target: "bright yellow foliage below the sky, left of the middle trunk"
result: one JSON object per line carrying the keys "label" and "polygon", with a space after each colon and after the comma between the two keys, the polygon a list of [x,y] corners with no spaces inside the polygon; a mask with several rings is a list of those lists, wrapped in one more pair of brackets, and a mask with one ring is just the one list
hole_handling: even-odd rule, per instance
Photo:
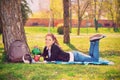
{"label": "bright yellow foliage below the sky, left of the middle trunk", "polygon": [[50,10],[55,19],[63,18],[62,0],[50,0],[50,9],[47,11],[38,11],[31,15],[31,18],[50,18]]}

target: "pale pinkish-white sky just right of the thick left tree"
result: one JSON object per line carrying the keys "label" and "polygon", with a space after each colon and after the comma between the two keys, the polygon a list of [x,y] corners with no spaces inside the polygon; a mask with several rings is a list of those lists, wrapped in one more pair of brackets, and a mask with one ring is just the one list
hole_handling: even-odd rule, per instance
{"label": "pale pinkish-white sky just right of the thick left tree", "polygon": [[28,6],[32,12],[39,12],[42,10],[49,10],[49,0],[27,0]]}

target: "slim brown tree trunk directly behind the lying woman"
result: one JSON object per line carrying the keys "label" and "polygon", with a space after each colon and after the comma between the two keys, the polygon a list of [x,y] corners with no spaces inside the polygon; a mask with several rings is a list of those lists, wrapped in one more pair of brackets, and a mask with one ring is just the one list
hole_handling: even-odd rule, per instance
{"label": "slim brown tree trunk directly behind the lying woman", "polygon": [[63,0],[63,8],[64,8],[64,43],[70,43],[69,36],[69,0]]}

